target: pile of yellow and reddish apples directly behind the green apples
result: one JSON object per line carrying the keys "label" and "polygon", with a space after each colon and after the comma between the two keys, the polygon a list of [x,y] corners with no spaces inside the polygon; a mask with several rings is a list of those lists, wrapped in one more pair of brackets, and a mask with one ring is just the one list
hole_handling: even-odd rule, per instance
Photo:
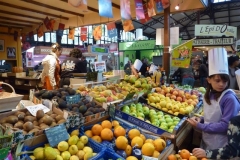
{"label": "pile of yellow and reddish apples directly behind the green apples", "polygon": [[147,101],[151,106],[177,116],[179,113],[187,115],[192,112],[199,99],[195,92],[189,93],[162,86],[162,88],[157,87],[155,92],[149,93]]}

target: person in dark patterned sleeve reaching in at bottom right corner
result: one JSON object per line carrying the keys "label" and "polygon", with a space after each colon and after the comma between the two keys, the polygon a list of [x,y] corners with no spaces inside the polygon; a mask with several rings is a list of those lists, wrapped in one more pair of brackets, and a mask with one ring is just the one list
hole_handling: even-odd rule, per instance
{"label": "person in dark patterned sleeve reaching in at bottom right corner", "polygon": [[[231,118],[227,131],[228,144],[225,147],[204,150],[201,148],[194,148],[192,153],[197,158],[209,159],[240,159],[240,115]],[[238,158],[236,158],[238,157]]]}

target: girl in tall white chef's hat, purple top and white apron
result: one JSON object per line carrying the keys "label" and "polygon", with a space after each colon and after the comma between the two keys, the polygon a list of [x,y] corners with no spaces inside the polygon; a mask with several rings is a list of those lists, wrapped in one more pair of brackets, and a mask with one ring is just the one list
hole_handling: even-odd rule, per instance
{"label": "girl in tall white chef's hat, purple top and white apron", "polygon": [[[227,144],[227,128],[230,118],[240,110],[240,102],[235,93],[228,89],[229,76],[227,52],[224,48],[215,48],[209,52],[208,86],[204,95],[204,116],[190,118],[188,122],[202,131],[201,148],[212,150]],[[220,65],[219,64],[223,64]]]}

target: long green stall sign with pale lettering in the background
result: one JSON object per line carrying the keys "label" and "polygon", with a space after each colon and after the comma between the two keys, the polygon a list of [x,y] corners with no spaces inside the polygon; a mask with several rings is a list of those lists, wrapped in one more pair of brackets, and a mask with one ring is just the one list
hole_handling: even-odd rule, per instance
{"label": "long green stall sign with pale lettering in the background", "polygon": [[154,49],[155,45],[156,45],[156,40],[120,42],[119,50],[127,51],[127,50]]}

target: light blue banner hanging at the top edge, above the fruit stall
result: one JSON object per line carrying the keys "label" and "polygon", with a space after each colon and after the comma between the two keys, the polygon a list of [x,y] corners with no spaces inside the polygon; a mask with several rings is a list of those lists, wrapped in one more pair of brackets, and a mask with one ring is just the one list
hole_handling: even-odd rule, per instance
{"label": "light blue banner hanging at the top edge, above the fruit stall", "polygon": [[111,0],[98,0],[98,9],[100,16],[113,18]]}

